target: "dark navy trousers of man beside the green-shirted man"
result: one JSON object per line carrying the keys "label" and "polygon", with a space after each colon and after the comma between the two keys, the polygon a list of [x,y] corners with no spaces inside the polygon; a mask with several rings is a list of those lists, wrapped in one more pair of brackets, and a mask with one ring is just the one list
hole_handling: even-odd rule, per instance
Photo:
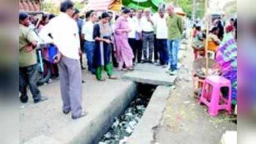
{"label": "dark navy trousers of man beside the green-shirted man", "polygon": [[169,48],[167,47],[166,39],[157,39],[158,51],[160,54],[160,64],[168,65],[169,63]]}

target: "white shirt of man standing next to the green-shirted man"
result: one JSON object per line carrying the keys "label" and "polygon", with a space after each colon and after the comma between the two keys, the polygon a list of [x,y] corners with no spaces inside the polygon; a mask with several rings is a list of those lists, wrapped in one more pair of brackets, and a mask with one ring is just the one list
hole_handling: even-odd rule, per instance
{"label": "white shirt of man standing next to the green-shirted man", "polygon": [[160,17],[160,15],[155,17],[155,27],[156,27],[156,38],[158,39],[167,39],[168,36],[168,28],[166,23],[166,16],[163,18]]}

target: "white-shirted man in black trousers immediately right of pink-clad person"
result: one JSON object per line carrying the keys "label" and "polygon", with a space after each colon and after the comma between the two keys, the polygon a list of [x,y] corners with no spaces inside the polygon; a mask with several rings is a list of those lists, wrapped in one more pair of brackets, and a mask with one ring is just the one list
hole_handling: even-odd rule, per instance
{"label": "white-shirted man in black trousers immediately right of pink-clad person", "polygon": [[129,28],[131,29],[131,32],[128,34],[128,42],[131,48],[133,49],[133,62],[136,61],[136,17],[134,17],[134,9],[131,9],[131,12],[129,14],[128,18]]}

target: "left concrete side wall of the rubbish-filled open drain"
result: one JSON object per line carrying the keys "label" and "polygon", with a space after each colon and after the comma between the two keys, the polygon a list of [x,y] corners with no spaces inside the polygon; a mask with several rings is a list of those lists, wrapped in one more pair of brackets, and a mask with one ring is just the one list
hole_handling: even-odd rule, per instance
{"label": "left concrete side wall of the rubbish-filled open drain", "polygon": [[98,113],[97,118],[91,120],[89,125],[83,127],[82,131],[69,144],[96,144],[100,141],[113,124],[114,118],[121,115],[136,96],[138,93],[137,86],[138,84],[133,83],[129,89],[123,90],[123,93],[111,101],[102,113]]}

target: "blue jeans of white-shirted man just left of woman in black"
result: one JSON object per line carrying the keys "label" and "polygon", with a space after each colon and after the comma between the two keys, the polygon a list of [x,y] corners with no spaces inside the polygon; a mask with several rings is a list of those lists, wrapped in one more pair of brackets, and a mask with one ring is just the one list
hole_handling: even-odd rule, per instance
{"label": "blue jeans of white-shirted man just left of woman in black", "polygon": [[86,41],[84,43],[84,51],[86,52],[88,70],[95,73],[95,68],[93,68],[93,57],[95,53],[95,42]]}

